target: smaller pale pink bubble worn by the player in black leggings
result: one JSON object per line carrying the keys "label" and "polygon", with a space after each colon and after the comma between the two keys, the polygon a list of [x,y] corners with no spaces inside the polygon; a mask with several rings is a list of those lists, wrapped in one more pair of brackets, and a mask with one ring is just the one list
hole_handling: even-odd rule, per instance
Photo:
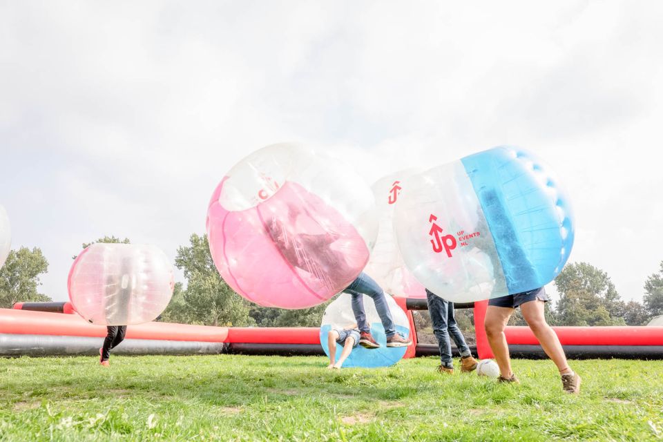
{"label": "smaller pale pink bubble worn by the player in black leggings", "polygon": [[68,287],[74,309],[89,323],[147,323],[173,296],[173,267],[154,246],[97,243],[74,261]]}

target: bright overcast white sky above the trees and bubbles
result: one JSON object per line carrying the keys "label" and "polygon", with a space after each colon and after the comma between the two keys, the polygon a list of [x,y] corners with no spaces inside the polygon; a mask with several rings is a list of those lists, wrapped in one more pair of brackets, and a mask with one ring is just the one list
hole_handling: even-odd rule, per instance
{"label": "bright overcast white sky above the trees and bubbles", "polygon": [[323,149],[367,184],[512,144],[566,186],[570,262],[640,300],[663,260],[662,18],[628,1],[1,1],[13,247],[39,247],[41,292],[66,300],[83,242],[174,258],[267,144]]}

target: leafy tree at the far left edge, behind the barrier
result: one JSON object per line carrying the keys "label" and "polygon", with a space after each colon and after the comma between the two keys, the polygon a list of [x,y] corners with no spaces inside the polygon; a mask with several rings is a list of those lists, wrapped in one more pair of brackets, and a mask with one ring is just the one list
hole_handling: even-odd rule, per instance
{"label": "leafy tree at the far left edge, behind the barrier", "polygon": [[41,285],[39,275],[46,271],[48,261],[37,247],[10,251],[0,269],[0,307],[10,309],[15,302],[50,301],[37,291]]}

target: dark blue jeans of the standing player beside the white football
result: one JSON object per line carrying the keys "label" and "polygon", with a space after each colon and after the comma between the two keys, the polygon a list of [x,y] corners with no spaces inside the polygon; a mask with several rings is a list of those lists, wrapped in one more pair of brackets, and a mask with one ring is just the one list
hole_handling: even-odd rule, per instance
{"label": "dark blue jeans of the standing player beside the white football", "polygon": [[451,340],[454,339],[461,356],[471,356],[470,347],[465,343],[463,333],[459,329],[454,317],[454,303],[448,302],[426,289],[428,300],[428,312],[430,320],[433,323],[433,334],[437,338],[437,345],[440,347],[440,360],[445,367],[453,367],[451,358]]}

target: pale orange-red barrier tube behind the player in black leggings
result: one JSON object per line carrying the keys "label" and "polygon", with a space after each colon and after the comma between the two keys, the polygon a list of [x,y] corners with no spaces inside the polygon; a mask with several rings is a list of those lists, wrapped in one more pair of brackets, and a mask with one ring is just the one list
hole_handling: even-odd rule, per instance
{"label": "pale orange-red barrier tube behind the player in black leggings", "polygon": [[[0,309],[0,333],[97,336],[103,338],[106,336],[106,327],[86,323],[78,315]],[[224,343],[228,338],[228,327],[146,323],[127,327],[126,337],[133,339],[195,340],[200,342]]]}

